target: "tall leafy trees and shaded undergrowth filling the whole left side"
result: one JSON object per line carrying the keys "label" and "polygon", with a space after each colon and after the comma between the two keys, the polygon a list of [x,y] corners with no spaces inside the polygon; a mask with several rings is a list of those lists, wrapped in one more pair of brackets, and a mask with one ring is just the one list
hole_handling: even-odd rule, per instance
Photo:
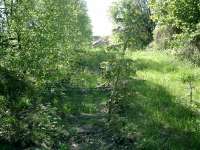
{"label": "tall leafy trees and shaded undergrowth filling the whole left side", "polygon": [[71,80],[91,34],[84,0],[0,0],[0,140],[64,149],[61,99],[40,93]]}

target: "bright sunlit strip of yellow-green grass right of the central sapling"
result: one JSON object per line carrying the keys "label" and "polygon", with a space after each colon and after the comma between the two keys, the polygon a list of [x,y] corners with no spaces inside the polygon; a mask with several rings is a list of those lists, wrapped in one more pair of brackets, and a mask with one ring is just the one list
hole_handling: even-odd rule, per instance
{"label": "bright sunlit strip of yellow-green grass right of the central sapling", "polygon": [[[190,62],[183,62],[174,56],[159,51],[143,51],[127,54],[128,58],[135,61],[137,77],[151,81],[165,88],[171,95],[178,99],[189,99],[187,97],[188,85],[183,83],[181,78],[185,74],[200,76],[200,68]],[[194,100],[200,100],[200,80],[194,83],[196,88]]]}

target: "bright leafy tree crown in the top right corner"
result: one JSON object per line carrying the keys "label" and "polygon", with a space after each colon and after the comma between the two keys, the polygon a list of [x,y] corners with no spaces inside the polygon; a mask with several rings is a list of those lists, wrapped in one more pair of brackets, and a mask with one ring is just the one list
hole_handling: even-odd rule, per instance
{"label": "bright leafy tree crown in the top right corner", "polygon": [[194,30],[199,23],[200,4],[198,0],[151,0],[152,18],[181,30]]}

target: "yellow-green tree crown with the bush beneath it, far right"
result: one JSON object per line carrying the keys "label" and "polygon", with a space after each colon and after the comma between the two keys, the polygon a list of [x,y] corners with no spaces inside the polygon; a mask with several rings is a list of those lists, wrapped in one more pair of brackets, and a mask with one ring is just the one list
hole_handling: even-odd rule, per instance
{"label": "yellow-green tree crown with the bush beneath it, far right", "polygon": [[169,32],[170,36],[161,32],[163,37],[161,43],[158,43],[157,38],[154,37],[154,48],[172,49],[174,54],[199,64],[199,1],[151,0],[150,8],[152,19],[157,23],[157,30],[162,31],[163,26],[172,29]]}

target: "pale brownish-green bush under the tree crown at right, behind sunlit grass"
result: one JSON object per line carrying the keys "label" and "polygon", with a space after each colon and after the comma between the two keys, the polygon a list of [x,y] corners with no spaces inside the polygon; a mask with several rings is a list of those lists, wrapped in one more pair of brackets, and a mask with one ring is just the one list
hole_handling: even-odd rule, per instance
{"label": "pale brownish-green bush under the tree crown at right, behind sunlit grass", "polygon": [[200,65],[200,23],[193,32],[181,32],[169,25],[157,25],[151,49],[170,49],[173,54]]}

